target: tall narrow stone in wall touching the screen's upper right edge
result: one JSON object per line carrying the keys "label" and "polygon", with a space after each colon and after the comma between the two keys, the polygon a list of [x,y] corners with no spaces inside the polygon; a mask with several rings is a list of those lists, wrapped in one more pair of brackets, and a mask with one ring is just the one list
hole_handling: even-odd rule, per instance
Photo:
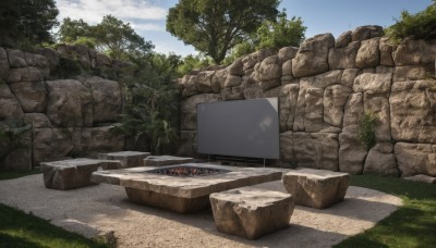
{"label": "tall narrow stone in wall touching the screen's upper right edge", "polygon": [[291,131],[295,117],[296,99],[299,97],[299,84],[284,85],[280,89],[280,131]]}

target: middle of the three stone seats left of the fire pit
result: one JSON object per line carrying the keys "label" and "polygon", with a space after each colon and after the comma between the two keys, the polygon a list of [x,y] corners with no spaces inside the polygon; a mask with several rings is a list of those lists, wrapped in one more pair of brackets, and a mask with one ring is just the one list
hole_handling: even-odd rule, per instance
{"label": "middle of the three stone seats left of the fire pit", "polygon": [[120,169],[143,166],[143,160],[150,156],[150,152],[143,151],[117,151],[98,154],[101,160],[119,160]]}

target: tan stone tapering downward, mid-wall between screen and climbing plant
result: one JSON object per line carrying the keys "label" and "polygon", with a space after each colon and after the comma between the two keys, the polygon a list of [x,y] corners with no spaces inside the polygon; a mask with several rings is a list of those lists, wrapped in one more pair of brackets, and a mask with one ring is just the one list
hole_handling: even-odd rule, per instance
{"label": "tan stone tapering downward, mid-wall between screen and climbing plant", "polygon": [[324,90],[324,123],[342,127],[343,107],[350,92],[351,89],[342,85],[328,86]]}

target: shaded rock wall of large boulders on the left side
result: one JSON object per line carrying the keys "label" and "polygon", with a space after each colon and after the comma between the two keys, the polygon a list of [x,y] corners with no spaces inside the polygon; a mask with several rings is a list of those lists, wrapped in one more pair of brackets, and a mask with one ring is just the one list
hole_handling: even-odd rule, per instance
{"label": "shaded rock wall of large boulders on the left side", "polygon": [[124,136],[111,131],[121,85],[108,78],[132,76],[129,64],[81,45],[57,49],[0,48],[0,168],[124,148]]}

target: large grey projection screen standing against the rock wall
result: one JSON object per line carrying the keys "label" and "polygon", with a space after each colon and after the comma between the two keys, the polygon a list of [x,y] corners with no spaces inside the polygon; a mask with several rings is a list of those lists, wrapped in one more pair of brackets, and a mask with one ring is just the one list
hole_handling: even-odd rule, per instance
{"label": "large grey projection screen standing against the rock wall", "polygon": [[197,151],[279,159],[278,99],[197,104]]}

